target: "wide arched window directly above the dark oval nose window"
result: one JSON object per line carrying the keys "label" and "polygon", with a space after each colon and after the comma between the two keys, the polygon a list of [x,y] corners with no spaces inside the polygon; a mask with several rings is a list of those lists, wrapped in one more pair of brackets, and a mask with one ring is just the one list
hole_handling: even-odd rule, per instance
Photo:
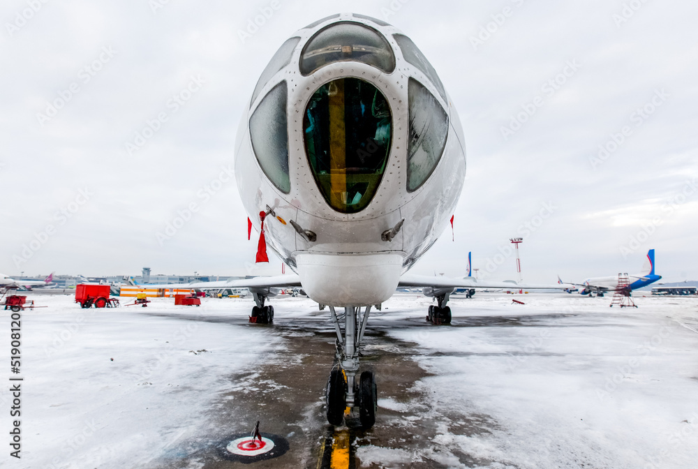
{"label": "wide arched window directly above the dark oval nose window", "polygon": [[343,61],[363,62],[385,73],[395,70],[395,55],[388,41],[375,29],[355,22],[330,24],[315,33],[303,48],[300,70],[307,76]]}

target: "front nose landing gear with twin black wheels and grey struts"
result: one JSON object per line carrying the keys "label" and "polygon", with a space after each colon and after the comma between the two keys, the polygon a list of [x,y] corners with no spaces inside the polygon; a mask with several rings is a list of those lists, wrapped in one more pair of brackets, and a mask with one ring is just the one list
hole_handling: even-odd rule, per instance
{"label": "front nose landing gear with twin black wheels and grey struts", "polygon": [[339,319],[334,306],[329,306],[337,333],[336,359],[327,380],[325,397],[327,401],[327,422],[340,426],[347,408],[359,408],[359,420],[364,429],[370,429],[376,423],[378,407],[378,390],[376,377],[372,371],[364,371],[357,382],[359,373],[359,345],[364,338],[366,322],[369,320],[371,306],[366,306],[362,316],[361,308],[348,306],[344,308],[344,334],[342,336]]}

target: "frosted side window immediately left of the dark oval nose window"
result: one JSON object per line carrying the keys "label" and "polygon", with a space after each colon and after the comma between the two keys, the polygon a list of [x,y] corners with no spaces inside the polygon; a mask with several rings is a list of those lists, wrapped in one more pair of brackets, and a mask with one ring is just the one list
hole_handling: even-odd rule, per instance
{"label": "frosted side window immediately left of the dark oval nose window", "polygon": [[288,194],[288,91],[283,81],[274,87],[255,109],[250,118],[252,149],[262,171],[279,191]]}

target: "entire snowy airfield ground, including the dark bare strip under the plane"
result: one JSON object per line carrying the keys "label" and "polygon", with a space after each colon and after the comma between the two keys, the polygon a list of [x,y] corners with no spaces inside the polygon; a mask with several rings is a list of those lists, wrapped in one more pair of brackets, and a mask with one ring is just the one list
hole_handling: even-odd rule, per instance
{"label": "entire snowy airfield ground, including the dark bare strip under the plane", "polygon": [[[346,430],[351,467],[698,467],[698,299],[641,295],[622,310],[609,296],[456,295],[439,327],[424,321],[430,299],[397,294],[369,320],[362,364],[376,371],[378,419]],[[22,459],[1,466],[327,465],[335,336],[311,300],[272,299],[274,325],[250,325],[251,297],[101,310],[34,299],[48,307],[22,313]],[[2,322],[7,364],[9,311]],[[288,452],[221,456],[257,420]]]}

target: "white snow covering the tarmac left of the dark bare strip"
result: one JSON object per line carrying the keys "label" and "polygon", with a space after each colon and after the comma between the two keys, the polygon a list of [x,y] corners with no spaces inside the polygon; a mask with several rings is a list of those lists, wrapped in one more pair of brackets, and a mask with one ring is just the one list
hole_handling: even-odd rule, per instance
{"label": "white snow covering the tarmac left of the dark bare strip", "polygon": [[[205,424],[211,400],[231,385],[224,378],[274,350],[273,336],[253,328],[243,333],[217,316],[226,308],[214,306],[242,312],[242,300],[199,308],[172,303],[97,310],[80,308],[72,297],[38,297],[36,304],[48,308],[22,314],[22,460],[3,454],[0,466],[149,467]],[[5,364],[8,313],[0,332]],[[9,408],[4,385],[0,401]],[[2,425],[9,431],[7,413]]]}

